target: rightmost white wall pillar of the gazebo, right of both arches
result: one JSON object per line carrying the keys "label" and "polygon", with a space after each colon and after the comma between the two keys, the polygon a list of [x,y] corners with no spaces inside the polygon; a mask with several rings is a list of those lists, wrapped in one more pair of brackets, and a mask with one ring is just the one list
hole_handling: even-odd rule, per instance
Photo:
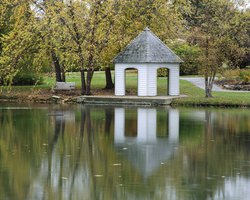
{"label": "rightmost white wall pillar of the gazebo, right of both arches", "polygon": [[170,96],[175,96],[180,94],[179,89],[179,65],[171,65],[169,68],[169,85],[168,85],[168,94]]}

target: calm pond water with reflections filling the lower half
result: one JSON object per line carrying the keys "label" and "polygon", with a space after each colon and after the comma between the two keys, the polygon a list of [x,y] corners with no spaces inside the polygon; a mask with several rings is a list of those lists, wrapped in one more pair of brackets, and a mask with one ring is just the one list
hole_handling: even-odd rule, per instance
{"label": "calm pond water with reflections filling the lower half", "polygon": [[0,105],[0,199],[249,199],[250,110]]}

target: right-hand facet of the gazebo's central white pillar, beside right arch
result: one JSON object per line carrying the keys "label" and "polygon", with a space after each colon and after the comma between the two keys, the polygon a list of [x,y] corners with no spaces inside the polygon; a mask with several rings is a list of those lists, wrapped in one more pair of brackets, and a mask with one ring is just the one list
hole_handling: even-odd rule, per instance
{"label": "right-hand facet of the gazebo's central white pillar, beside right arch", "polygon": [[149,65],[148,66],[148,96],[157,95],[157,67]]}

